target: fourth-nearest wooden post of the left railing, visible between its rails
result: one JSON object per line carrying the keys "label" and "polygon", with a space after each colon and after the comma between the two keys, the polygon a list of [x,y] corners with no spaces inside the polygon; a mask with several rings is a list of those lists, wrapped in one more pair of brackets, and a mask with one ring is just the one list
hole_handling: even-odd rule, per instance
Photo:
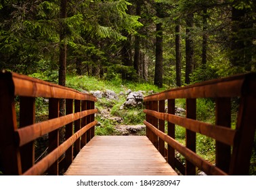
{"label": "fourth-nearest wooden post of the left railing, visible between its rails", "polygon": [[[73,99],[66,99],[66,115],[73,113],[73,111],[74,111],[73,103],[74,103]],[[74,123],[71,122],[70,124],[66,125],[66,133],[65,133],[66,140],[73,135],[73,130],[74,130],[73,124]],[[65,169],[68,169],[69,165],[73,161],[73,147],[72,146],[70,146],[65,153],[65,161],[66,161]]]}

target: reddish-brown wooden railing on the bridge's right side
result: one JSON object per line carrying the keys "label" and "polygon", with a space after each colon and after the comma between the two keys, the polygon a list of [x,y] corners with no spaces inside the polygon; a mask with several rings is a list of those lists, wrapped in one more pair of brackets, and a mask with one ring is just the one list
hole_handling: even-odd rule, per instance
{"label": "reddish-brown wooden railing on the bridge's right side", "polygon": [[[240,101],[235,129],[231,128],[231,98],[234,97]],[[196,120],[196,99],[199,98],[215,99],[215,124]],[[175,115],[175,99],[186,99],[186,117]],[[145,97],[144,102],[146,135],[162,155],[167,152],[165,157],[171,167],[184,175],[196,175],[196,167],[207,175],[249,174],[256,128],[255,74],[174,88]],[[186,128],[185,145],[175,140],[177,126]],[[196,154],[196,133],[216,141],[215,163]],[[177,152],[185,157],[185,165],[175,156]]]}

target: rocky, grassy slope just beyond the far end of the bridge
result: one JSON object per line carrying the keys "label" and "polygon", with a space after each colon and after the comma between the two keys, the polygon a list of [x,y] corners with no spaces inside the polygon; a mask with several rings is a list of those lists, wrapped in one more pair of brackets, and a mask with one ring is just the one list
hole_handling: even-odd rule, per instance
{"label": "rocky, grassy slope just beyond the far end of the bridge", "polygon": [[[114,134],[116,135],[144,135],[146,134],[146,126],[142,124],[142,122],[138,122],[137,124],[125,124],[125,113],[126,111],[133,111],[133,109],[137,109],[138,111],[143,111],[143,99],[144,95],[152,94],[153,91],[131,91],[127,90],[125,92],[120,92],[116,94],[112,90],[106,90],[102,92],[98,91],[90,91],[89,94],[93,94],[98,99],[98,106],[96,104],[96,108],[98,108],[97,116],[102,120],[99,121],[98,127],[104,128],[105,123],[111,123],[114,126]],[[116,111],[120,111],[121,113],[115,113],[112,115],[112,108],[115,104],[121,104],[119,109]],[[185,109],[176,107],[176,113],[182,115],[185,113]],[[122,115],[123,113],[123,115]],[[116,115],[117,114],[117,115]],[[119,115],[119,116],[118,116]],[[136,119],[136,115],[128,119]],[[144,116],[144,115],[143,115]],[[144,119],[144,117],[143,117]]]}

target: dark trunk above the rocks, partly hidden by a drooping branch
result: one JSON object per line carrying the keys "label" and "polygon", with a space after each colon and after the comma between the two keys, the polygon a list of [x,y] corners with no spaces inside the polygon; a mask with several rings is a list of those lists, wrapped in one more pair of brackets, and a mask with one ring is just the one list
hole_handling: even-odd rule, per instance
{"label": "dark trunk above the rocks, partly hidden by a drooping branch", "polygon": [[[136,1],[136,15],[140,16],[142,12],[141,1]],[[133,68],[137,74],[140,74],[140,36],[135,36],[134,42],[134,60]]]}

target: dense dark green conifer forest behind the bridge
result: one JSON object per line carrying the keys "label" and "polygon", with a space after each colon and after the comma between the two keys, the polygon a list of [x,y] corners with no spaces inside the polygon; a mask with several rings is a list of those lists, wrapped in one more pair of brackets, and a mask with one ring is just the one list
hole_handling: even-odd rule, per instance
{"label": "dense dark green conifer forest behind the bridge", "polygon": [[182,86],[254,72],[253,0],[4,0],[0,69]]}

